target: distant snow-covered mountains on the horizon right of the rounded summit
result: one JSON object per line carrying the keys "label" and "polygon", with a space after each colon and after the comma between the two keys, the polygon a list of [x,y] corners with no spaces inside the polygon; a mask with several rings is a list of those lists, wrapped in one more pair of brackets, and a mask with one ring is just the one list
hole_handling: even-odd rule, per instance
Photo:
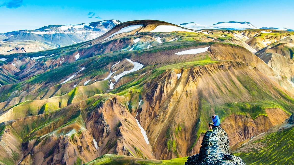
{"label": "distant snow-covered mountains on the horizon right of the rounded summit", "polygon": [[[245,30],[245,29],[258,29],[256,26],[252,25],[250,22],[237,22],[237,21],[228,21],[228,22],[218,22],[213,25],[201,25],[198,23],[182,23],[180,26],[195,30],[200,29],[226,29],[226,30]],[[293,31],[287,28],[260,28],[260,29],[273,29],[273,30],[284,30],[284,31]]]}

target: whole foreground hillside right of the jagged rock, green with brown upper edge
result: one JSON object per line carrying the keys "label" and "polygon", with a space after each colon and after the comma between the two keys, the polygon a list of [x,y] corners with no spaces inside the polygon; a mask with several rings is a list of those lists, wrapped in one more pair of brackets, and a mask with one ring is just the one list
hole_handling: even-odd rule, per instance
{"label": "whole foreground hillside right of the jagged rock, green with brown upper edge", "polygon": [[247,164],[293,164],[293,132],[294,114],[267,132],[234,144],[230,151]]}

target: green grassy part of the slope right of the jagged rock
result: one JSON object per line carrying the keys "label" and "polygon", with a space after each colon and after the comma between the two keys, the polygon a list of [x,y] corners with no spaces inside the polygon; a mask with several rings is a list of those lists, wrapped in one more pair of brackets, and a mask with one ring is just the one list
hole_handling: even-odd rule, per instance
{"label": "green grassy part of the slope right of the jagged rock", "polygon": [[266,135],[253,142],[258,148],[244,153],[235,153],[246,164],[294,164],[294,127]]}

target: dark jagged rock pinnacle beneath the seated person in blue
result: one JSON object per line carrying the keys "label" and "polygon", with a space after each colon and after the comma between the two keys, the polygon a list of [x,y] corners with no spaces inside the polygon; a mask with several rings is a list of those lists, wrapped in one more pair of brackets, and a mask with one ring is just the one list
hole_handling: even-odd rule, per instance
{"label": "dark jagged rock pinnacle beneath the seated person in blue", "polygon": [[199,154],[189,156],[185,165],[203,164],[242,164],[245,162],[238,156],[228,152],[228,134],[221,127],[213,128],[213,132],[206,132]]}

